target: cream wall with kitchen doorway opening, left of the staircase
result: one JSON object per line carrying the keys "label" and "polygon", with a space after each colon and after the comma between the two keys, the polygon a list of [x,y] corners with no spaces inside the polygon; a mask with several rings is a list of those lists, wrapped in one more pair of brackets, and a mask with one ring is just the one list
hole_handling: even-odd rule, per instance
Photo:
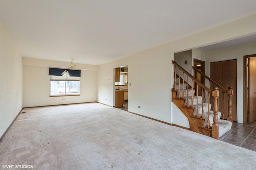
{"label": "cream wall with kitchen doorway opening, left of the staircase", "polygon": [[154,48],[99,66],[99,102],[113,106],[113,68],[128,65],[128,111],[170,122],[171,53],[160,50],[156,57],[156,52]]}

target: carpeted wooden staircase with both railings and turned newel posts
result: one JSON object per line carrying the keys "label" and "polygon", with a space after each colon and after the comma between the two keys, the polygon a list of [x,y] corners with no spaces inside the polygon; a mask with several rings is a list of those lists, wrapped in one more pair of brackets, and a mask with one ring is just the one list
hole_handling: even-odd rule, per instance
{"label": "carpeted wooden staircase with both railings and turned newel posts", "polygon": [[[208,81],[208,87],[202,84],[194,76],[184,70],[175,61],[174,65],[174,88],[172,88],[172,102],[186,115],[190,125],[190,131],[194,131],[214,139],[219,139],[224,133],[232,129],[232,87],[225,90],[218,83],[211,80],[208,76],[193,67],[195,73],[199,73]],[[197,74],[195,74],[197,75]],[[214,86],[210,90],[210,84]],[[227,120],[225,110],[219,111],[220,92],[228,95]],[[212,103],[210,99],[212,98]],[[223,100],[223,105],[225,101]],[[225,108],[225,107],[223,107]],[[211,110],[212,109],[212,110]]]}

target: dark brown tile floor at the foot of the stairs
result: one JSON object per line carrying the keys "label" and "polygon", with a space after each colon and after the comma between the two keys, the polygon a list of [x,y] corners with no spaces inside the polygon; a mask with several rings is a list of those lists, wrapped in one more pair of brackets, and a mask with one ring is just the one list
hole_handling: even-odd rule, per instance
{"label": "dark brown tile floor at the foot of the stairs", "polygon": [[233,129],[222,135],[220,141],[256,151],[256,121],[248,124],[233,122]]}

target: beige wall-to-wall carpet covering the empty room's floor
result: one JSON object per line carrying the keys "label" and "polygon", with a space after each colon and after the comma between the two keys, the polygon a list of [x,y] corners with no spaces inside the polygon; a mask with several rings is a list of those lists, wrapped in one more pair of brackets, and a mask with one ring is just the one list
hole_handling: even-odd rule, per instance
{"label": "beige wall-to-wall carpet covering the empty room's floor", "polygon": [[0,141],[0,168],[256,168],[252,150],[98,103],[23,111]]}

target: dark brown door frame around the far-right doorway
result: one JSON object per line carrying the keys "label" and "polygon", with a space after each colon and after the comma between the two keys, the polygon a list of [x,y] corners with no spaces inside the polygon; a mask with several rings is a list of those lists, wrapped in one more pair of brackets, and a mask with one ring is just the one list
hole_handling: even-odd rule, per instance
{"label": "dark brown door frame around the far-right doorway", "polygon": [[252,55],[244,55],[244,124],[248,123],[248,93],[247,93],[247,82],[248,82],[248,70],[247,70],[247,64],[248,64],[248,58],[250,57],[256,57],[256,54]]}

